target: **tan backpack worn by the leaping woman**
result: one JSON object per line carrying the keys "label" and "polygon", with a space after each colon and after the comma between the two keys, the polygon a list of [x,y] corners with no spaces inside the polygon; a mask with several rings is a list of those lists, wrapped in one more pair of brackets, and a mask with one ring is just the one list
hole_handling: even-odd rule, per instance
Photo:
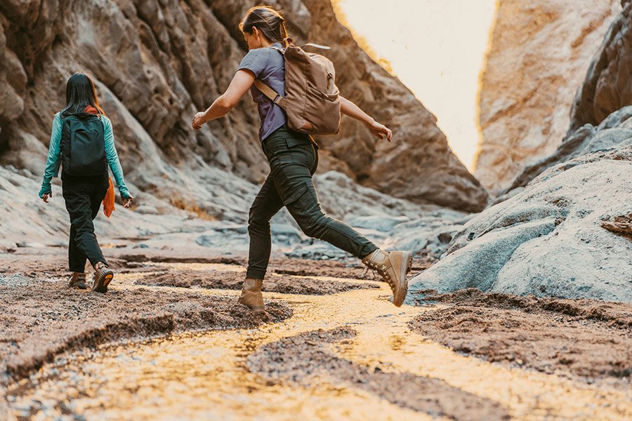
{"label": "tan backpack worn by the leaping woman", "polygon": [[[294,41],[284,39],[287,48],[275,48],[285,59],[283,96],[262,81],[254,84],[287,114],[292,130],[310,135],[336,135],[340,131],[340,93],[334,83],[334,63],[319,54],[305,53]],[[305,44],[329,50],[327,46]]]}

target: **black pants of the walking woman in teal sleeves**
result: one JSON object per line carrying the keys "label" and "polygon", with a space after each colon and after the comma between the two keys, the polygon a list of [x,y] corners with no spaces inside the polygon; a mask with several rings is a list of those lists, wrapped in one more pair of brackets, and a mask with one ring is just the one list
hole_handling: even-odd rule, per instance
{"label": "black pants of the walking woman in teal sleeves", "polygon": [[107,173],[93,177],[72,177],[62,173],[62,192],[70,215],[68,265],[71,272],[84,272],[91,265],[107,265],[94,234],[93,220],[107,192]]}

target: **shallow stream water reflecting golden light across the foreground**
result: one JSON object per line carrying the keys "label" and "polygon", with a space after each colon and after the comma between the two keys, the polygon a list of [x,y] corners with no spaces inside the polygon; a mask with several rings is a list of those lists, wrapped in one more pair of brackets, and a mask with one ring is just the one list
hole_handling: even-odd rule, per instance
{"label": "shallow stream water reflecting golden light across the foreground", "polygon": [[[242,270],[230,265],[159,266]],[[138,276],[118,276],[115,288],[136,288]],[[286,300],[294,316],[252,330],[174,335],[58,358],[9,388],[11,408],[24,420],[430,419],[419,408],[397,405],[335,376],[312,376],[308,386],[286,384],[265,380],[247,366],[247,357],[261,345],[348,326],[357,332],[355,338],[326,345],[327,352],[371,370],[440,379],[457,391],[454,399],[459,399],[458,391],[480,396],[500,403],[515,419],[632,418],[632,392],[487,363],[424,340],[409,331],[407,322],[432,309],[397,309],[388,302],[388,292],[381,284],[379,290],[327,296],[268,293],[265,300]],[[206,293],[227,300],[238,295]]]}

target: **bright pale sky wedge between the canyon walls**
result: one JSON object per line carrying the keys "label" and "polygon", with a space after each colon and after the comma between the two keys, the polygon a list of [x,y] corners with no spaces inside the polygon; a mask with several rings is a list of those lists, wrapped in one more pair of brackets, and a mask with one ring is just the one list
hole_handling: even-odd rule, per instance
{"label": "bright pale sky wedge between the canyon walls", "polygon": [[479,133],[478,76],[496,0],[337,0],[351,29],[437,116],[472,170]]}

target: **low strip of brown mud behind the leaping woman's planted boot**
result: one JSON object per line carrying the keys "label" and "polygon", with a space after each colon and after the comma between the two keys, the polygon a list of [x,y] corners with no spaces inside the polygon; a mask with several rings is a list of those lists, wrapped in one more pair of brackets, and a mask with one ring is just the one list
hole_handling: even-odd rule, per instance
{"label": "low strip of brown mud behind the leaping woman's planted boot", "polygon": [[[243,272],[226,270],[183,270],[171,269],[143,276],[137,285],[173,286],[178,288],[209,288],[241,290]],[[268,274],[263,281],[263,292],[301,295],[336,294],[355,289],[379,288],[375,283],[331,281],[299,276]]]}

